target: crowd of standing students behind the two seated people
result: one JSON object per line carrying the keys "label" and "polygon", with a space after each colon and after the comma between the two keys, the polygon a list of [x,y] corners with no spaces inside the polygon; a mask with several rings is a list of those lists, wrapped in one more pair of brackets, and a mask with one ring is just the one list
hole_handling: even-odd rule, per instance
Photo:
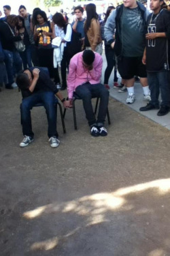
{"label": "crowd of standing students behind the two seated people", "polygon": [[[104,76],[106,89],[109,89],[109,76],[114,68],[114,88],[119,88],[120,92],[127,91],[126,103],[133,104],[135,76],[139,76],[143,100],[148,101],[139,110],[159,109],[157,115],[166,115],[170,110],[170,13],[163,8],[164,5],[163,0],[151,0],[151,13],[136,0],[124,0],[117,8],[109,6],[104,20],[99,20],[95,4],[89,3],[86,5],[86,18],[83,16],[84,9],[78,6],[74,9],[71,24],[64,12],[56,12],[54,16],[50,16],[50,21],[46,12],[39,8],[35,8],[31,15],[24,5],[20,5],[19,15],[16,16],[11,15],[10,6],[5,5],[5,18],[0,20],[0,83],[4,82],[6,89],[13,89],[17,86],[15,75],[22,67],[27,69],[40,66],[48,68],[50,78],[57,88],[66,89],[71,76],[69,74],[67,81],[67,70],[69,71],[69,63],[73,57],[69,46],[75,31],[80,35],[79,52],[86,49],[102,55],[102,41],[104,42],[107,60]],[[24,49],[17,48],[16,42],[22,42]],[[117,66],[122,77],[120,85]],[[85,64],[82,67],[86,69]],[[85,79],[88,84],[88,73],[92,68],[89,64]]]}

